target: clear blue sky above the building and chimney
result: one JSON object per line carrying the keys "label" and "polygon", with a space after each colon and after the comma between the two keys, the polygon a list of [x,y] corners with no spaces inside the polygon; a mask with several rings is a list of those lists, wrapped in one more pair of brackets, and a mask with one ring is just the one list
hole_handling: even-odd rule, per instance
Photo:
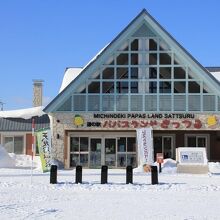
{"label": "clear blue sky above the building and chimney", "polygon": [[66,67],[82,67],[143,8],[203,66],[220,66],[219,0],[0,0],[0,100],[32,107],[32,79],[45,102]]}

